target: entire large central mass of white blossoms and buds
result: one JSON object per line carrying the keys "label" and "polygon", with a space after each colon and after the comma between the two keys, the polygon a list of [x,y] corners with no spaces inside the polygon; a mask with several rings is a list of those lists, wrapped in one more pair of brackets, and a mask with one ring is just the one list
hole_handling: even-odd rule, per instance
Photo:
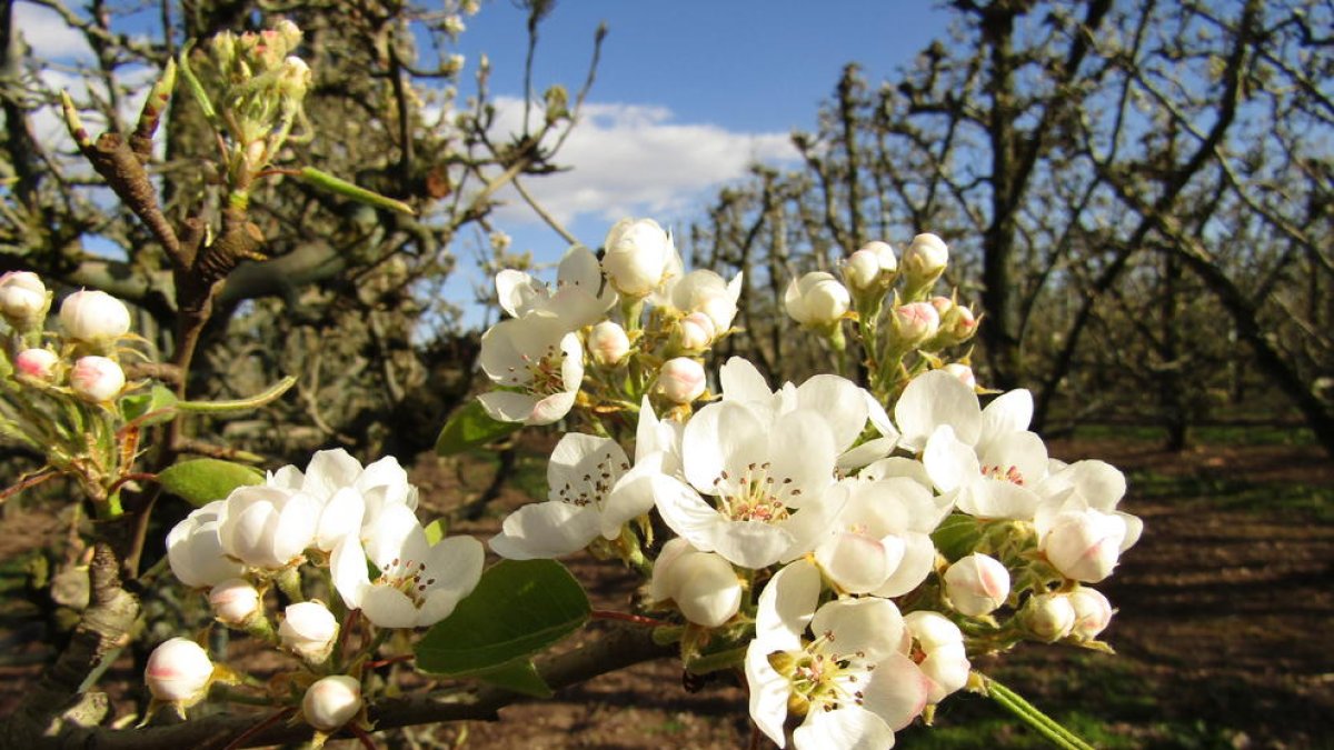
{"label": "entire large central mass of white blossoms and buds", "polygon": [[751,718],[779,747],[888,747],[952,693],[982,690],[982,654],[1107,649],[1114,610],[1091,585],[1142,530],[1117,507],[1125,476],[1049,456],[1029,391],[984,391],[967,355],[948,358],[978,318],[958,294],[932,294],[947,262],[940,238],[918,235],[902,260],[874,242],[842,280],[788,286],[799,326],[840,352],[851,332],[867,383],[771,387],[732,358],[716,392],[703,355],[728,331],[739,283],[684,274],[651,220],[616,224],[600,268],[572,250],[555,292],[502,272],[511,318],[483,339],[499,386],[487,411],[540,424],[586,407],[635,426],[632,459],[596,419],[598,435],[566,434],[547,499],[511,514],[491,550],[588,550],[639,569],[660,637],[688,671],[742,670]]}

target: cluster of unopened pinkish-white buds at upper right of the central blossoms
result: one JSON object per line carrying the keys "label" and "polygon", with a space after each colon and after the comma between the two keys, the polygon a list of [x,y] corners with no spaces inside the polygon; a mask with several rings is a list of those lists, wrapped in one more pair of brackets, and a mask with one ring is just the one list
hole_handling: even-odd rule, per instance
{"label": "cluster of unopened pinkish-white buds at upper right of the central blossoms", "polygon": [[[943,366],[943,350],[976,334],[978,319],[971,308],[959,304],[958,291],[951,296],[931,294],[948,260],[948,246],[931,234],[912,238],[902,262],[888,243],[871,242],[843,262],[842,282],[824,271],[794,279],[784,307],[796,323],[827,338],[839,352],[846,347],[843,322],[854,322],[871,372],[870,386],[887,398],[906,383],[900,364],[907,355],[922,355],[908,363],[908,375],[915,375],[927,364]],[[967,356],[950,364],[972,384]]]}

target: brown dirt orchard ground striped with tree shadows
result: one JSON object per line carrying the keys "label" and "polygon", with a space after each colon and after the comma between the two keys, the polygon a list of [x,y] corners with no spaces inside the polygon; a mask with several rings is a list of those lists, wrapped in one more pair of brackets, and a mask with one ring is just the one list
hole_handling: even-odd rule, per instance
{"label": "brown dirt orchard ground striped with tree shadows", "polygon": [[[1053,443],[1066,459],[1098,456],[1129,474],[1209,482],[1301,483],[1329,503],[1334,466],[1315,448],[1209,447],[1165,454],[1147,443]],[[536,460],[536,459],[535,459]],[[414,479],[431,510],[486,483],[486,470],[456,471],[424,456]],[[506,490],[479,522],[451,532],[482,538],[507,508],[524,502]],[[1066,647],[1021,646],[978,666],[1066,721],[1098,726],[1095,745],[1119,747],[1334,747],[1334,524],[1314,512],[1210,508],[1207,499],[1157,494],[1131,484],[1122,507],[1145,519],[1145,534],[1101,589],[1119,613],[1105,634],[1117,657]],[[1329,518],[1327,514],[1323,518]],[[63,526],[40,511],[0,520],[0,559],[13,560]],[[594,606],[626,610],[634,581],[587,556],[568,560]],[[9,597],[9,594],[5,594]],[[8,606],[4,610],[9,610]],[[596,626],[582,638],[595,638]],[[0,631],[0,713],[12,707],[47,654],[40,627]],[[132,679],[113,671],[111,679]],[[696,686],[698,687],[698,686]],[[1082,718],[1081,718],[1082,717]],[[936,729],[910,729],[899,746],[1041,747],[972,695],[946,701]],[[986,721],[984,739],[940,742],[951,729]],[[671,661],[639,665],[511,706],[496,723],[418,727],[383,735],[382,746],[475,749],[746,747],[751,729],[735,685],[682,685]],[[951,743],[952,742],[952,743]],[[971,743],[970,743],[971,742]]]}

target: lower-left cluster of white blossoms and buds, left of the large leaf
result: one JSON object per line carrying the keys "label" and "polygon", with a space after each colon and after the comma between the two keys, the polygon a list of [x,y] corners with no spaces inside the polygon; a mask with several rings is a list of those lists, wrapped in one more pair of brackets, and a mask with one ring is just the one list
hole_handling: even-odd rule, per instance
{"label": "lower-left cluster of white blossoms and buds, left of the large leaf", "polygon": [[[363,679],[387,635],[444,619],[480,579],[482,544],[471,536],[432,543],[416,506],[418,490],[396,459],[363,467],[346,451],[320,451],[305,471],[287,466],[263,484],[237,487],[167,535],[172,573],[207,595],[220,625],[295,662],[265,694],[299,709],[316,745],[368,726]],[[312,583],[324,589],[308,591]],[[153,653],[144,681],[157,707],[183,713],[219,675],[237,682],[235,670],[176,638]]]}

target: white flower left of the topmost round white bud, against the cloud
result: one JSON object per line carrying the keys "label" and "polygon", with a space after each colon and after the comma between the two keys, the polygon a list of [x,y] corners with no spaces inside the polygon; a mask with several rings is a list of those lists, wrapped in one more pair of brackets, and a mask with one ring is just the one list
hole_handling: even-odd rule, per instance
{"label": "white flower left of the topmost round white bud, against the cloud", "polygon": [[603,291],[598,256],[583,246],[572,246],[556,270],[556,291],[523,271],[507,268],[496,274],[500,308],[514,318],[531,312],[551,314],[568,331],[595,323],[616,304],[616,292]]}

